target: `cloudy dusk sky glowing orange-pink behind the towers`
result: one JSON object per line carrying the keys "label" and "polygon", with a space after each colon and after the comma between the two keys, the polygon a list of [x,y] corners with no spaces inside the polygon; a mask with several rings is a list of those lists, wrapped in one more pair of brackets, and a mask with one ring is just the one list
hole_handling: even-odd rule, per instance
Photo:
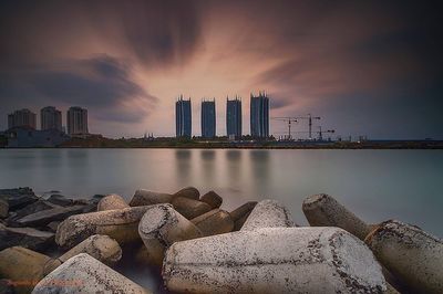
{"label": "cloudy dusk sky glowing orange-pink behind the towers", "polygon": [[[1,1],[0,129],[19,108],[89,111],[107,137],[175,135],[175,101],[266,91],[270,116],[315,130],[443,139],[443,33],[435,1]],[[38,115],[39,117],[39,115]],[[38,125],[39,124],[38,118]],[[284,122],[270,122],[276,136]],[[300,120],[293,135],[307,134]]]}

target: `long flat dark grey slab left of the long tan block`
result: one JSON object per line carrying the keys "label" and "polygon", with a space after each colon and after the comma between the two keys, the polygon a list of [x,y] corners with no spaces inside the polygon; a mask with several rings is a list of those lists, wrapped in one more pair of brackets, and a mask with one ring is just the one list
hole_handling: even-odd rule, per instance
{"label": "long flat dark grey slab left of the long tan block", "polygon": [[84,206],[56,207],[25,216],[16,222],[20,225],[44,227],[52,221],[62,221],[70,216],[82,213],[83,210]]}

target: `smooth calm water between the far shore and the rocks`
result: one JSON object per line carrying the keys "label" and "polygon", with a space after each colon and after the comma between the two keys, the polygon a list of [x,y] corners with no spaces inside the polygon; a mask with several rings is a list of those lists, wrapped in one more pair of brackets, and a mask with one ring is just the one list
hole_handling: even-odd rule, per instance
{"label": "smooth calm water between the far shore and the rocks", "polygon": [[71,197],[136,189],[215,190],[233,209],[278,199],[306,223],[301,202],[327,192],[369,222],[396,218],[443,235],[441,150],[2,149],[0,187]]}

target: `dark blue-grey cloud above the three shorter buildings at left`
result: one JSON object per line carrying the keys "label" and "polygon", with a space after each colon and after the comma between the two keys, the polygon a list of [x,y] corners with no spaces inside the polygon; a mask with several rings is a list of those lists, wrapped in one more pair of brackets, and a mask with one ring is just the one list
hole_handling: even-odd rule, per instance
{"label": "dark blue-grey cloud above the three shorter buildings at left", "polygon": [[[1,73],[2,109],[47,104],[80,105],[101,120],[140,123],[148,113],[124,107],[125,102],[142,99],[155,106],[157,98],[130,78],[131,66],[115,57],[99,55],[89,60],[64,60],[50,65],[27,66]],[[35,109],[34,109],[35,111]]]}

